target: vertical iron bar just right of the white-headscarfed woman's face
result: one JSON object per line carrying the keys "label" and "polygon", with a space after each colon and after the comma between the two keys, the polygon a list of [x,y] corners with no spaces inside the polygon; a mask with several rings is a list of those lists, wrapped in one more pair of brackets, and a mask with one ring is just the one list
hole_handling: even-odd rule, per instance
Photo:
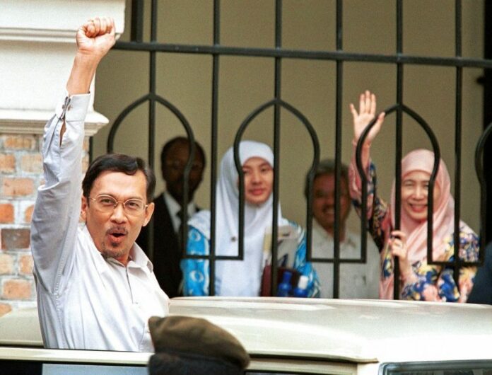
{"label": "vertical iron bar just right of the white-headscarfed woman's face", "polygon": [[[275,47],[282,47],[282,0],[275,4]],[[281,99],[281,63],[275,57],[275,99]],[[280,174],[280,105],[274,106],[274,212],[271,217],[271,295],[276,296],[277,289],[277,238],[279,231],[279,174]]]}

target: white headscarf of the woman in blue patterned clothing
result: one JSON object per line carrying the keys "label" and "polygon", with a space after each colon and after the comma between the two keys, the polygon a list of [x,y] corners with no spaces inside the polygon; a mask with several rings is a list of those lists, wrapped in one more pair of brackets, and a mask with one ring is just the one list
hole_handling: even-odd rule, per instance
{"label": "white headscarf of the woman in blue patterned clothing", "polygon": [[[242,141],[239,147],[241,165],[250,158],[262,158],[274,166],[274,154],[266,144]],[[216,195],[216,255],[238,255],[239,188],[238,171],[234,164],[233,147],[221,161]],[[266,202],[252,205],[245,202],[244,260],[218,260],[215,287],[218,296],[258,296],[263,270],[263,241],[265,229],[271,227],[273,195]],[[279,225],[282,218],[279,204]],[[209,222],[195,217],[189,224],[210,238]]]}

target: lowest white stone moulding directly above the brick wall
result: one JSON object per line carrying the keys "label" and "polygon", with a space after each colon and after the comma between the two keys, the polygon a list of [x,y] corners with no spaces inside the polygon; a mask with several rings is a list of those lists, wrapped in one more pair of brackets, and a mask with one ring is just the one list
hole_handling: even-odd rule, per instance
{"label": "lowest white stone moulding directly above the brick wall", "polygon": [[[0,110],[0,134],[43,134],[45,124],[53,114],[48,110]],[[92,137],[109,122],[98,112],[88,112],[86,137]]]}

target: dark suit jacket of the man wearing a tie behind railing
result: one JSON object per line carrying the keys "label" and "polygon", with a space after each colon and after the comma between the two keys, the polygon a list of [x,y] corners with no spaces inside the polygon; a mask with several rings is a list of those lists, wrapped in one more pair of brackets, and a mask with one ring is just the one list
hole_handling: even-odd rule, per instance
{"label": "dark suit jacket of the man wearing a tie behind railing", "polygon": [[136,243],[149,255],[148,227],[153,225],[153,259],[151,259],[153,272],[165,294],[172,298],[181,295],[180,283],[183,277],[180,268],[181,249],[163,195],[156,197],[153,202],[156,204],[153,221],[142,228]]}

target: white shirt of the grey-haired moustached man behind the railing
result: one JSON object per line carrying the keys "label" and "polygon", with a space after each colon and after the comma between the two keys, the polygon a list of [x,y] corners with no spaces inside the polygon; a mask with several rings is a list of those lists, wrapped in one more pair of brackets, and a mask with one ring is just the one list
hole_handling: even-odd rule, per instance
{"label": "white shirt of the grey-haired moustached man behind the railing", "polygon": [[[316,219],[312,220],[312,256],[333,258],[333,237]],[[361,238],[346,231],[345,241],[340,242],[340,258],[361,258]],[[333,263],[314,264],[321,283],[321,297],[333,298]],[[380,255],[373,241],[368,238],[367,262],[340,264],[339,297],[345,299],[377,299],[379,296]]]}

